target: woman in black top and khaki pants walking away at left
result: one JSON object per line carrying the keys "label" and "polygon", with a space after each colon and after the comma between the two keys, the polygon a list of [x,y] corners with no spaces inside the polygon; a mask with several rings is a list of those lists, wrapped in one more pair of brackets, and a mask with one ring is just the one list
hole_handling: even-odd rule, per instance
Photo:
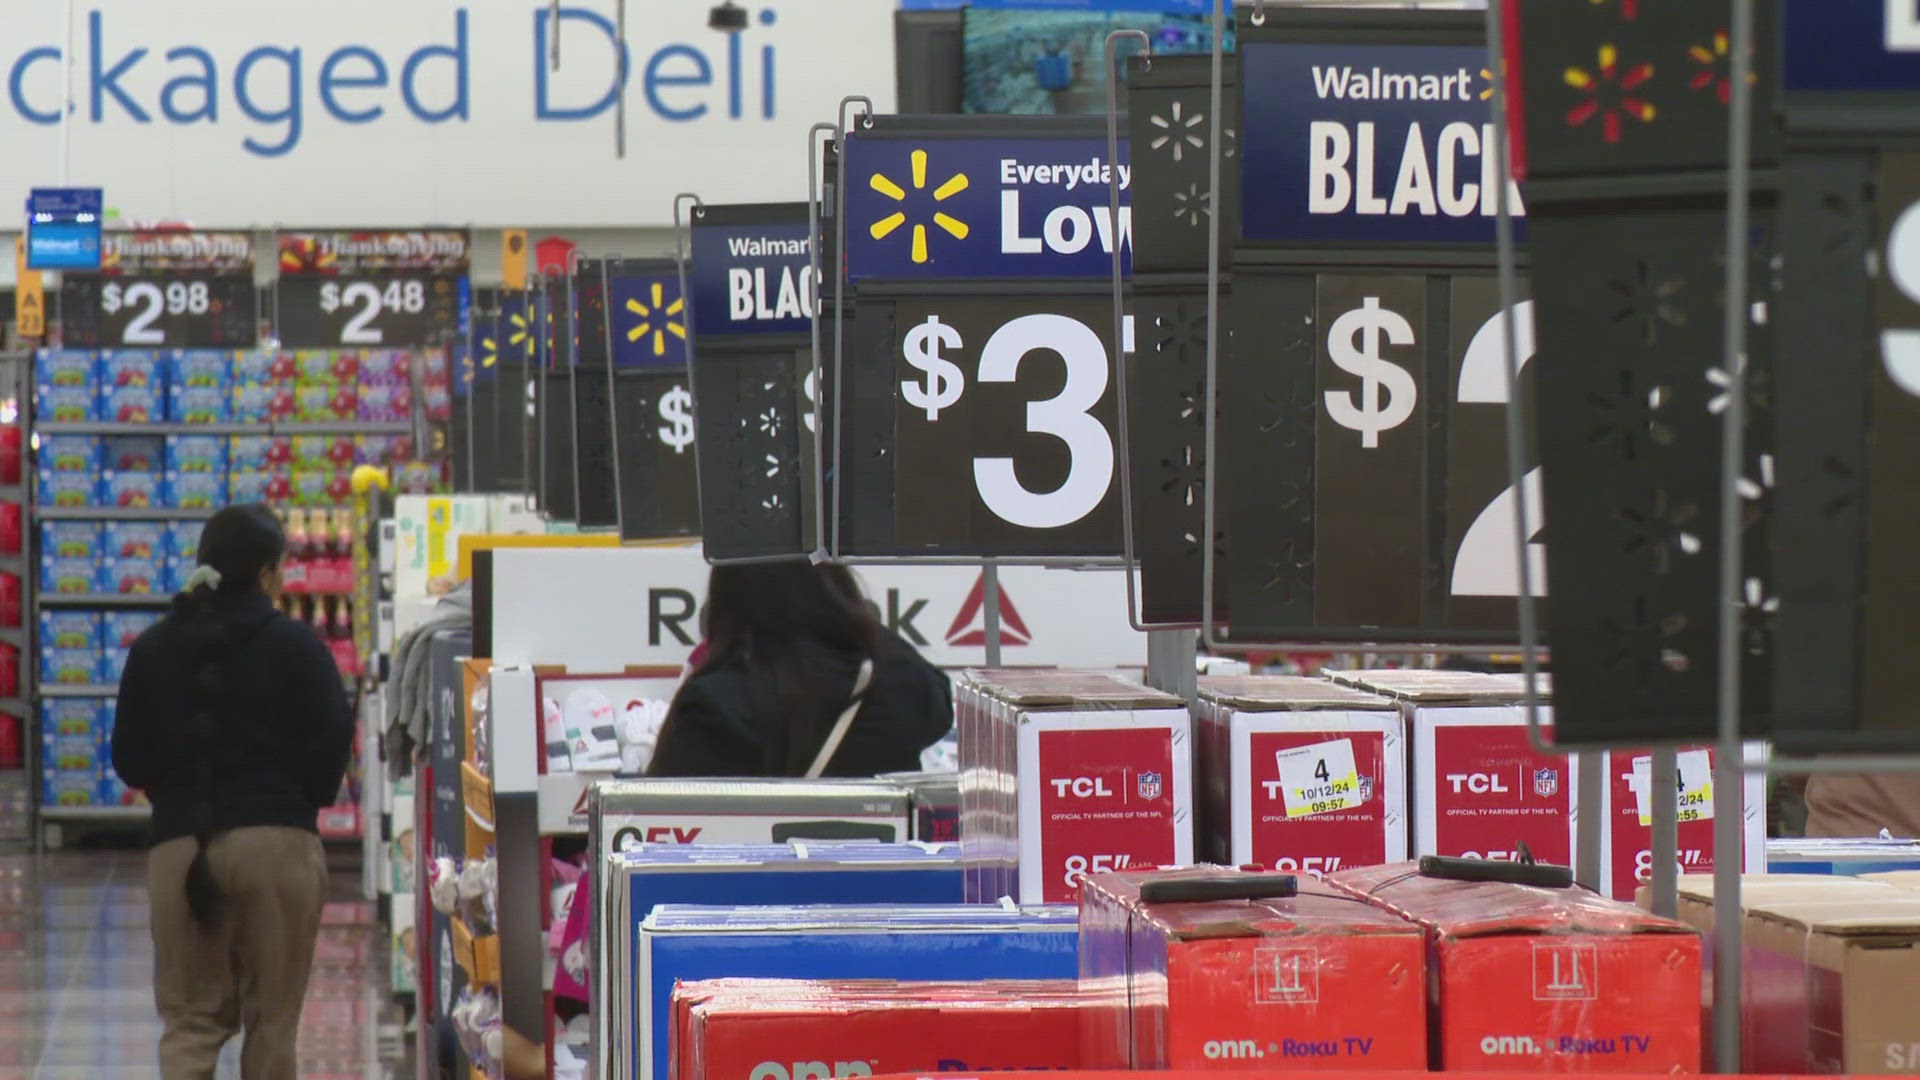
{"label": "woman in black top and khaki pants walking away at left", "polygon": [[163,1080],[213,1076],[246,1032],[246,1080],[298,1076],[326,899],[317,828],[353,744],[332,653],[278,609],[286,534],[230,505],[200,567],[127,655],[113,769],[154,803],[148,894]]}

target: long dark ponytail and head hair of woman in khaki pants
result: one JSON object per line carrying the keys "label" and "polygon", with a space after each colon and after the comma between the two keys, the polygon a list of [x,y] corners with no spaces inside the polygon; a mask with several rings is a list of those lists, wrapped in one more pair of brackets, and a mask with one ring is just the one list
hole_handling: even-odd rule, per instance
{"label": "long dark ponytail and head hair of woman in khaki pants", "polygon": [[186,655],[192,657],[192,719],[186,740],[194,748],[198,767],[198,798],[194,803],[194,861],[186,867],[186,907],[202,926],[219,919],[221,890],[207,863],[207,844],[213,840],[213,748],[219,744],[227,700],[227,623],[219,613],[219,596],[259,592],[261,575],[280,565],[286,555],[286,530],[265,505],[230,505],[200,530],[200,565],[217,573],[213,584],[204,571],[192,588],[173,598],[173,623]]}

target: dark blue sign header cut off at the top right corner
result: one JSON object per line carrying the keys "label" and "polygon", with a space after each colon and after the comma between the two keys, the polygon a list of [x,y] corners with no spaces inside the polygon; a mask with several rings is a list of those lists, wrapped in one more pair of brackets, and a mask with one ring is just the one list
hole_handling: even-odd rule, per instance
{"label": "dark blue sign header cut off at the top right corner", "polygon": [[1920,90],[1920,0],[1788,0],[1782,38],[1788,90]]}

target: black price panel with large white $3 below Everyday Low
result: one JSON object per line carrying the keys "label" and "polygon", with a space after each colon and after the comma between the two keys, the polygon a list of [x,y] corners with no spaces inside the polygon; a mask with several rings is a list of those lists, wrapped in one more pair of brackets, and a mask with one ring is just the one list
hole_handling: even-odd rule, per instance
{"label": "black price panel with large white $3 below Everyday Low", "polygon": [[[895,538],[956,553],[1119,550],[1112,306],[895,306]],[[972,492],[972,498],[950,498]]]}

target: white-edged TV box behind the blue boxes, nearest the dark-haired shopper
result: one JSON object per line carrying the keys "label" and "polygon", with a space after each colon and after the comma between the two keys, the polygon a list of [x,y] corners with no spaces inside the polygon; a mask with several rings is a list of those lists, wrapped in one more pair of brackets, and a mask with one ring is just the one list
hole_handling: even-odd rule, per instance
{"label": "white-edged TV box behind the blue boxes, nearest the dark-haired shopper", "polygon": [[643,844],[785,844],[908,838],[906,790],[874,780],[601,780],[588,788],[591,859],[593,1047],[611,1061],[607,972],[612,953],[607,861]]}

